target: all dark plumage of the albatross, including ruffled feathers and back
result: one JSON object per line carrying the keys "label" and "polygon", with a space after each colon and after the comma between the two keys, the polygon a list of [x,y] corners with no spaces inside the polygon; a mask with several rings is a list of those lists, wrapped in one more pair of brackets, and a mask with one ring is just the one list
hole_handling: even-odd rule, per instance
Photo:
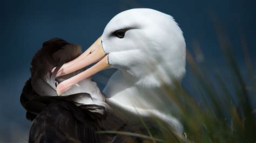
{"label": "all dark plumage of the albatross, including ruffled feathers and back", "polygon": [[[33,57],[31,77],[20,98],[26,119],[32,121],[29,142],[142,142],[126,135],[95,133],[105,130],[146,133],[146,129],[113,112],[91,78],[57,96],[56,85],[84,69],[56,78],[57,70],[81,53],[80,46],[53,38],[44,42]],[[96,90],[97,94],[90,94],[90,90]]]}

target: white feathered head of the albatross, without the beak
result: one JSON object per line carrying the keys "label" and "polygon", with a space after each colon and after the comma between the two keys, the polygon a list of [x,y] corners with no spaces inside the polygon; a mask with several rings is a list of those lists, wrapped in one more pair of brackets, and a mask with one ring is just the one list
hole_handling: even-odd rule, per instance
{"label": "white feathered head of the albatross, without the beak", "polygon": [[[127,30],[124,38],[113,33]],[[152,9],[131,9],[119,13],[107,24],[103,35],[109,63],[130,74],[137,85],[160,86],[180,80],[185,74],[186,44],[174,19]]]}

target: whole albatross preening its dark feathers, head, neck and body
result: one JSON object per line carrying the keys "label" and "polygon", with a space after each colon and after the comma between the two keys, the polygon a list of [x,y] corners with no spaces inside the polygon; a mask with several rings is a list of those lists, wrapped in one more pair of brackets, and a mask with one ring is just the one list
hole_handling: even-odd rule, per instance
{"label": "whole albatross preening its dark feathers, head, neck and body", "polygon": [[[30,142],[140,142],[95,131],[144,133],[142,117],[158,132],[151,116],[182,133],[179,120],[163,110],[161,87],[183,78],[185,57],[178,24],[152,9],[119,13],[82,54],[79,46],[62,39],[45,42],[32,60],[31,79],[21,95],[27,118],[33,120]],[[102,93],[90,77],[106,68],[118,70]]]}

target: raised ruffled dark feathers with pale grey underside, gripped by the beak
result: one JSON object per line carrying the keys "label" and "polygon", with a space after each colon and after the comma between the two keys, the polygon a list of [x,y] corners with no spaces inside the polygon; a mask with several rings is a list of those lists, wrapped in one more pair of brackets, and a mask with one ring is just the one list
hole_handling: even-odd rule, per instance
{"label": "raised ruffled dark feathers with pale grey underside, gripped by the beak", "polygon": [[[79,82],[61,96],[57,96],[58,83],[85,70],[83,68],[56,78],[57,71],[63,63],[77,58],[80,54],[82,51],[79,45],[70,44],[60,38],[53,38],[43,43],[43,47],[33,56],[30,68],[31,78],[25,83],[20,99],[21,104],[27,110],[28,119],[35,118],[34,116],[38,115],[47,105],[58,100],[70,101],[77,106],[101,106],[101,108],[91,110],[100,114],[110,109],[97,84],[91,81],[91,77]],[[51,70],[55,66],[56,69],[52,73]]]}

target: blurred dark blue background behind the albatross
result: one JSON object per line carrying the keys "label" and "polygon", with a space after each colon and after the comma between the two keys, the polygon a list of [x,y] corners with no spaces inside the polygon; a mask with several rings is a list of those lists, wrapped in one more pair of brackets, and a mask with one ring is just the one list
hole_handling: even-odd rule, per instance
{"label": "blurred dark blue background behind the albatross", "polygon": [[[127,9],[151,8],[176,19],[184,32],[188,51],[200,45],[203,57],[212,68],[225,73],[211,13],[225,26],[235,58],[247,77],[240,35],[244,34],[255,67],[255,1],[1,1],[1,96],[0,142],[26,142],[31,122],[19,103],[25,81],[30,77],[30,61],[42,42],[54,37],[82,45],[83,51],[102,33],[109,20]],[[198,49],[196,49],[198,51]],[[96,75],[103,89],[114,70]],[[191,87],[191,71],[183,80]],[[19,137],[21,136],[21,137]]]}

